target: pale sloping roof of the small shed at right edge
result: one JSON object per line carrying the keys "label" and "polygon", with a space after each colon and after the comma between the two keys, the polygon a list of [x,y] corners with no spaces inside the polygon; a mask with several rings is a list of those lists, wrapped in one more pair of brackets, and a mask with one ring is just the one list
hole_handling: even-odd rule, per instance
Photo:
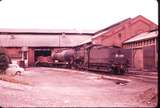
{"label": "pale sloping roof of the small shed at right edge", "polygon": [[150,39],[150,38],[155,38],[158,36],[158,31],[151,31],[151,32],[145,32],[145,33],[141,33],[131,39],[128,39],[126,41],[124,41],[123,43],[131,43],[131,42],[136,42],[136,41],[140,41],[140,40],[145,40],[145,39]]}

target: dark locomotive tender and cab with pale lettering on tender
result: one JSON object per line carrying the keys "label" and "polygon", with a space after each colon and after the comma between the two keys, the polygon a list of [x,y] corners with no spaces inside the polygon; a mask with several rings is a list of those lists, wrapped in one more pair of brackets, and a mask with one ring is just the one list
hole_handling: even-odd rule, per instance
{"label": "dark locomotive tender and cab with pale lettering on tender", "polygon": [[81,50],[80,55],[78,52],[74,63],[77,69],[123,74],[130,64],[131,51],[119,47],[90,45]]}

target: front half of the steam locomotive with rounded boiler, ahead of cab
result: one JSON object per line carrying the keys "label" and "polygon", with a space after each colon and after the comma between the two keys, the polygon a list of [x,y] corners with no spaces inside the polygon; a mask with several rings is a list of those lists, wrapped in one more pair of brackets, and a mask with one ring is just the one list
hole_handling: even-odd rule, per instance
{"label": "front half of the steam locomotive with rounded boiler, ahead of cab", "polygon": [[65,49],[53,52],[51,56],[39,56],[35,62],[35,66],[71,68],[74,53],[73,49]]}

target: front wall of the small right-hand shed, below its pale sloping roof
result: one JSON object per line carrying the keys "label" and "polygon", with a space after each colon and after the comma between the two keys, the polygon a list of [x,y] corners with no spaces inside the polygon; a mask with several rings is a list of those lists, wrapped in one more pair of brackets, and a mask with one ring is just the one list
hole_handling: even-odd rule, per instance
{"label": "front wall of the small right-hand shed, below its pale sloping roof", "polygon": [[153,71],[157,69],[156,38],[125,43],[123,48],[132,49],[132,68]]}

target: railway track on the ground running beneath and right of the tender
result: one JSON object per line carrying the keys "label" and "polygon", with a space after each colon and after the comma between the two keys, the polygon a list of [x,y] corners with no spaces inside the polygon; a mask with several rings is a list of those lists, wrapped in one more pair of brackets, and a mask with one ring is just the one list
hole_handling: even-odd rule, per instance
{"label": "railway track on the ground running beneath and right of the tender", "polygon": [[122,80],[138,80],[142,82],[147,82],[147,83],[157,83],[158,82],[158,75],[156,72],[132,72],[129,71],[125,73],[124,75],[114,75],[108,71],[104,70],[76,70],[76,69],[65,69],[65,68],[57,68],[57,70],[61,71],[70,71],[70,70],[75,70],[75,71],[83,71],[83,72],[89,72],[89,73],[94,73],[102,76],[104,79],[122,79]]}

